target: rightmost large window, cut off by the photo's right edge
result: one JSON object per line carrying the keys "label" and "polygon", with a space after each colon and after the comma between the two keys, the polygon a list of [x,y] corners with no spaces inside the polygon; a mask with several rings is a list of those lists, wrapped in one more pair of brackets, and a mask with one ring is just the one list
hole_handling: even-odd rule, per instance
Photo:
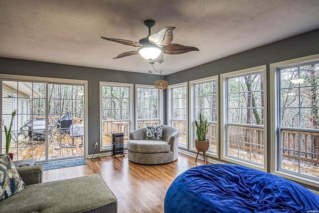
{"label": "rightmost large window, cut off by the photo's right edge", "polygon": [[[304,58],[305,59],[305,58]],[[319,57],[273,65],[276,171],[319,183]],[[302,60],[302,59],[300,59]],[[299,60],[299,61],[300,61]],[[298,61],[298,59],[297,59]],[[309,182],[308,182],[309,184]]]}

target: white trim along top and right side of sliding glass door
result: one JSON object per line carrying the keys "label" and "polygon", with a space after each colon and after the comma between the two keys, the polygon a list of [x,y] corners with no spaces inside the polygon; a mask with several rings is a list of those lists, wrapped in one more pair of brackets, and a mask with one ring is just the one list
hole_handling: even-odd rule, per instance
{"label": "white trim along top and right side of sliding glass door", "polygon": [[[76,80],[76,79],[63,79],[63,78],[49,78],[49,77],[38,77],[38,76],[26,76],[26,75],[10,75],[0,74],[2,80],[16,80],[16,81],[36,81],[36,82],[49,82],[49,83],[65,83],[65,84],[83,84],[84,85],[84,158],[88,158],[88,81],[87,80]],[[1,85],[2,91],[2,85]],[[48,91],[46,91],[48,92]],[[2,101],[1,101],[2,102]],[[47,105],[46,105],[47,106]],[[2,104],[0,106],[2,111]],[[0,139],[0,150],[2,150],[2,137]]]}

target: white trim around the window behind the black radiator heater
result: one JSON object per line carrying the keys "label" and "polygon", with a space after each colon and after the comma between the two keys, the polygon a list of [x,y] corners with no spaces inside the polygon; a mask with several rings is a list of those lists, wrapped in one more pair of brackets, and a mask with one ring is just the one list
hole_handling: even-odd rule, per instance
{"label": "white trim around the window behind the black radiator heater", "polygon": [[[130,132],[132,132],[133,130],[133,120],[134,120],[134,96],[133,96],[133,88],[134,88],[134,84],[128,84],[128,83],[117,83],[117,82],[106,82],[106,81],[100,81],[100,87],[99,87],[99,95],[100,95],[100,151],[107,151],[107,150],[111,150],[112,147],[111,146],[104,146],[103,147],[103,132],[102,132],[102,86],[123,86],[123,87],[129,87],[130,88],[130,91],[129,91],[129,94],[130,94],[130,100],[129,100],[129,103],[130,103],[130,109],[129,109],[129,112],[130,112]],[[124,149],[126,148],[126,144],[124,144]]]}

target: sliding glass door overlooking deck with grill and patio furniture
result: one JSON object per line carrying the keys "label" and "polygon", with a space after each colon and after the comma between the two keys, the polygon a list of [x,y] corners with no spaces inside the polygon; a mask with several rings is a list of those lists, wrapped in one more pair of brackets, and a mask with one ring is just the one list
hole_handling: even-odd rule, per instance
{"label": "sliding glass door overlooking deck with grill and patio furniture", "polygon": [[[12,138],[13,160],[48,161],[83,156],[83,85],[1,81],[3,124]],[[4,128],[1,133],[5,153]]]}

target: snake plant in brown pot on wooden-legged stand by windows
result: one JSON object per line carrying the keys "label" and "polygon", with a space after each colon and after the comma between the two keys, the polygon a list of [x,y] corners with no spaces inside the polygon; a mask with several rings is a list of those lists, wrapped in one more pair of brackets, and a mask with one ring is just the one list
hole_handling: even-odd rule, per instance
{"label": "snake plant in brown pot on wooden-legged stand by windows", "polygon": [[208,164],[205,152],[207,152],[209,148],[209,140],[206,139],[206,134],[208,132],[208,126],[210,124],[211,123],[207,124],[207,119],[205,119],[204,116],[201,113],[199,113],[199,122],[195,120],[195,125],[196,125],[195,147],[197,149],[197,156],[196,156],[195,162],[197,161],[199,152],[203,152],[204,162],[206,158],[206,163]]}

